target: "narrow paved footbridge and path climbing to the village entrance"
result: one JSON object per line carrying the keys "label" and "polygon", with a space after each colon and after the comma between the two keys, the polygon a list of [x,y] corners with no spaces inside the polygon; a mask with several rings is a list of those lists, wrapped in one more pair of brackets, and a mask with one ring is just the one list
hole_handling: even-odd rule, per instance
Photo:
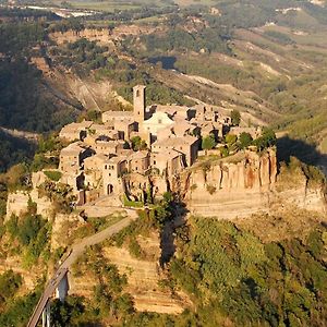
{"label": "narrow paved footbridge and path climbing to the village entrance", "polygon": [[137,214],[133,209],[125,209],[128,211],[128,217],[123,218],[119,222],[108,227],[107,229],[92,235],[88,238],[83,239],[80,243],[74,244],[72,250],[69,252],[66,258],[57,269],[52,278],[46,284],[45,291],[40,296],[33,315],[29,318],[27,327],[36,327],[38,320],[40,319],[45,308],[47,307],[49,300],[52,298],[55,291],[57,290],[59,283],[66,278],[66,274],[72,266],[72,264],[76,261],[76,258],[83,254],[86,246],[95,245],[98,243],[104,242],[106,239],[112,237],[113,234],[118,233],[125,227],[128,227],[133,220],[137,218]]}

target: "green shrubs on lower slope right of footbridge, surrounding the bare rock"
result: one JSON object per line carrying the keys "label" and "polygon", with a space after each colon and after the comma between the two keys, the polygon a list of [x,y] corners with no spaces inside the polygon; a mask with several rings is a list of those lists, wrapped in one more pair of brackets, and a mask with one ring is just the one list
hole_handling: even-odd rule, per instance
{"label": "green shrubs on lower slope right of footbridge, surrounding the bare rock", "polygon": [[[123,326],[324,324],[326,227],[316,226],[302,239],[263,243],[232,222],[201,217],[192,217],[189,222],[177,230],[178,249],[169,264],[169,287],[189,293],[193,308],[181,315],[135,313],[130,295],[123,293],[125,277],[119,276],[100,247],[95,246],[74,266],[75,275],[82,276],[87,267],[98,280],[94,299],[86,302],[71,298],[66,311],[56,304],[53,322],[64,319],[64,324],[75,326],[108,319],[114,314]],[[136,220],[128,228],[128,234],[148,232],[146,225],[146,220]],[[136,256],[141,255],[135,240],[130,247]]]}

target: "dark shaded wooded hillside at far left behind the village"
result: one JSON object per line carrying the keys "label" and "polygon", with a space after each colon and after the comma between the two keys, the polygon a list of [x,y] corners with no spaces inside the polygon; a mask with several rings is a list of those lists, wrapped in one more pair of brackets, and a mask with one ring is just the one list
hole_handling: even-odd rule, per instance
{"label": "dark shaded wooded hillside at far left behind the village", "polygon": [[[39,45],[46,39],[44,23],[1,24],[0,126],[47,132],[62,126],[76,116],[69,105],[60,104],[59,109],[58,98],[49,92],[41,72],[29,63],[31,57],[44,56]],[[77,108],[78,104],[73,106]],[[2,131],[0,140],[0,171],[33,157],[34,144]]]}

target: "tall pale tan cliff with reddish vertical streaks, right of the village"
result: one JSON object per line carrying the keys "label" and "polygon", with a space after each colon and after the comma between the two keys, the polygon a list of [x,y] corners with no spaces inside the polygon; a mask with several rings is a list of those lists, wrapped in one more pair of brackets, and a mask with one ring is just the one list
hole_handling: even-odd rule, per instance
{"label": "tall pale tan cliff with reddish vertical streaks, right of the village", "polygon": [[277,192],[277,158],[274,149],[264,154],[245,152],[238,162],[204,162],[185,171],[173,187],[180,192],[190,214],[222,219],[269,211],[276,202],[291,202],[305,209],[325,211],[319,190],[305,185]]}

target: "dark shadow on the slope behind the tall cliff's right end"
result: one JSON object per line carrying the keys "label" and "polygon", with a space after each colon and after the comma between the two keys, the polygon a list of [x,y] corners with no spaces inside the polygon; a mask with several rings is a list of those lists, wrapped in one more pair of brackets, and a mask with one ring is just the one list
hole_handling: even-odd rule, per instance
{"label": "dark shadow on the slope behind the tall cliff's right end", "polygon": [[[290,158],[295,157],[306,165],[327,165],[327,155],[322,154],[314,144],[308,144],[302,140],[294,140],[283,136],[277,140],[278,161],[290,162]],[[327,168],[327,167],[326,167]]]}

